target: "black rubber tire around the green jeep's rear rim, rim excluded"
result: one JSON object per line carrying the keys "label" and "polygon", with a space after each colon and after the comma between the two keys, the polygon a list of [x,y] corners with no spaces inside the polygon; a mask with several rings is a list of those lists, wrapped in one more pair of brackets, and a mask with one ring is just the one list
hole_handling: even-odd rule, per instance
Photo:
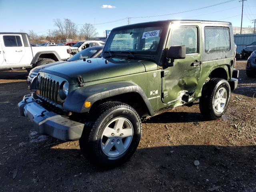
{"label": "black rubber tire around the green jeep's rear rim, rim excluded", "polygon": [[[224,88],[226,90],[226,103],[220,112],[217,112],[214,105],[214,98],[216,97],[217,92]],[[222,89],[223,90],[223,89]],[[230,85],[229,83],[220,78],[213,78],[209,82],[207,82],[202,89],[202,96],[199,100],[199,108],[201,114],[207,120],[215,120],[220,118],[228,107],[228,103],[230,100]]]}

